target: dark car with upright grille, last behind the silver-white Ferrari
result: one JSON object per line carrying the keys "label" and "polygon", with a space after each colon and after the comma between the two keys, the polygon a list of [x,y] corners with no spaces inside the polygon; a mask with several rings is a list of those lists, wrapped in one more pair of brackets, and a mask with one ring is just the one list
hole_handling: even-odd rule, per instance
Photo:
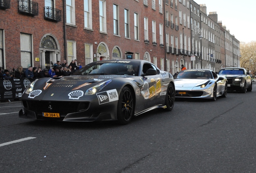
{"label": "dark car with upright grille, last behind the silver-white Ferrari", "polygon": [[219,76],[225,76],[227,78],[227,90],[228,91],[240,91],[246,93],[246,91],[252,91],[252,78],[249,72],[246,72],[245,68],[222,68],[218,72]]}

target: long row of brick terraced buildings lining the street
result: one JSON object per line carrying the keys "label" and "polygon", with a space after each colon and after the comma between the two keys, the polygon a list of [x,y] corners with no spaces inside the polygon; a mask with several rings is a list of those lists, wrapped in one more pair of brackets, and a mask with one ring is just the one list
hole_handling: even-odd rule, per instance
{"label": "long row of brick terraced buildings lining the street", "polygon": [[[64,59],[68,63],[76,59],[84,66],[95,60],[126,59],[127,54],[172,74],[182,64],[215,71],[239,66],[239,41],[217,15],[207,16],[206,6],[194,1],[0,2],[0,66],[6,69],[52,68]],[[202,30],[202,40],[193,36],[192,25]],[[216,42],[209,41],[209,32]],[[191,61],[192,55],[196,59]]]}

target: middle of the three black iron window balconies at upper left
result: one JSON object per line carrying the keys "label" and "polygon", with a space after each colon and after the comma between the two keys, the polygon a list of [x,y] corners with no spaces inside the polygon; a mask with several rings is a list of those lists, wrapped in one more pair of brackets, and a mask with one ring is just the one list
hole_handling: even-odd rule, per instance
{"label": "middle of the three black iron window balconies at upper left", "polygon": [[[1,0],[0,0],[1,1]],[[29,14],[31,16],[38,15],[38,3],[31,0],[18,0],[18,12]]]}

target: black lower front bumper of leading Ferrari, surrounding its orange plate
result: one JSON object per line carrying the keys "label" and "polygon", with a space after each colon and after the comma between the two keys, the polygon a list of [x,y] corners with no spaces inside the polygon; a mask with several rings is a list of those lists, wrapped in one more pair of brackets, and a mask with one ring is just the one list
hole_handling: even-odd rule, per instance
{"label": "black lower front bumper of leading Ferrari, surrounding its orange plate", "polygon": [[[115,120],[117,103],[103,105],[92,104],[88,101],[22,101],[23,110],[19,111],[19,117],[35,120],[49,121],[98,121]],[[50,109],[51,108],[51,109]],[[112,113],[111,113],[112,111]],[[60,117],[44,117],[43,113],[59,113]]]}

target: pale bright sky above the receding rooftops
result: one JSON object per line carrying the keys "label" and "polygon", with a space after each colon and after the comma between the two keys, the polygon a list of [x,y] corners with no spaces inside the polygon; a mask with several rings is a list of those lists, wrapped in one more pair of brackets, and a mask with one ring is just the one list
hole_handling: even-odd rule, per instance
{"label": "pale bright sky above the receding rooftops", "polygon": [[217,12],[218,21],[239,42],[256,41],[256,0],[194,0],[205,4],[207,15]]}

